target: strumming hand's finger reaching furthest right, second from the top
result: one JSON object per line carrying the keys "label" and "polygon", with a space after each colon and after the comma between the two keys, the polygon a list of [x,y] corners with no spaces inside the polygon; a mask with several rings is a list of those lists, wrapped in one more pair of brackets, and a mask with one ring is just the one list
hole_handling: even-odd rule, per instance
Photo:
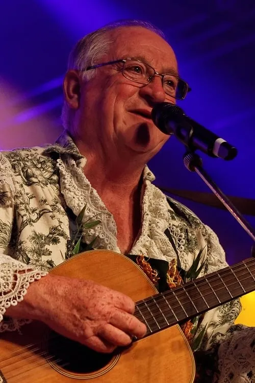
{"label": "strumming hand's finger reaching furthest right, second from the top", "polygon": [[116,309],[110,319],[110,324],[119,328],[130,336],[142,338],[147,331],[145,324],[131,314]]}

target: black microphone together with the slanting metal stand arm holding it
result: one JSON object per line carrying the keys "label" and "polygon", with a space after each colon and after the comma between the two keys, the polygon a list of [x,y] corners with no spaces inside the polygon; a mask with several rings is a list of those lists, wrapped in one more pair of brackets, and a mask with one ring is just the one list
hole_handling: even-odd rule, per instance
{"label": "black microphone together with the slanting metal stand arm holding it", "polygon": [[[187,169],[191,172],[196,172],[200,176],[255,243],[254,229],[245,220],[230,199],[227,198],[216,183],[209,177],[202,167],[201,158],[195,153],[195,150],[198,149],[211,157],[232,160],[237,155],[237,149],[186,116],[184,111],[175,104],[166,102],[157,103],[154,108],[152,108],[151,117],[154,124],[163,133],[173,134],[183,143],[187,148],[187,152],[184,155],[184,164]],[[255,247],[253,249],[255,249]]]}

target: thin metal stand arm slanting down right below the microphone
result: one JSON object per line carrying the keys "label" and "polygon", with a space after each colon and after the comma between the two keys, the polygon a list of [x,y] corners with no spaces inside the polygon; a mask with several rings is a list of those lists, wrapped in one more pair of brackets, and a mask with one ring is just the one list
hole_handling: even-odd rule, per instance
{"label": "thin metal stand arm slanting down right below the microphone", "polygon": [[[230,201],[230,199],[225,196],[221,189],[216,185],[216,183],[211,179],[207,172],[202,167],[202,159],[195,153],[192,149],[188,148],[187,152],[184,154],[184,165],[190,172],[196,172],[201,179],[210,187],[212,192],[216,197],[221,201],[225,208],[232,214],[232,216],[237,220],[237,222],[242,226],[246,233],[252,238],[255,243],[255,230],[250,226],[250,224],[245,220],[240,211],[237,210],[235,205]],[[255,255],[254,245],[251,249],[252,256]]]}

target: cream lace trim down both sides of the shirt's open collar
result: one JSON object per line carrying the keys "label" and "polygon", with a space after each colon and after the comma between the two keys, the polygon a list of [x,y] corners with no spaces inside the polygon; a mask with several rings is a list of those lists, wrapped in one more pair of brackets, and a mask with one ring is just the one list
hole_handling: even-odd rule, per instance
{"label": "cream lace trim down both sides of the shirt's open collar", "polygon": [[[120,252],[117,246],[115,220],[98,196],[96,190],[85,177],[83,172],[85,163],[85,158],[75,162],[73,158],[62,153],[62,158],[57,160],[61,193],[75,215],[78,215],[85,205],[87,206],[84,221],[89,220],[95,214],[103,212],[98,217],[101,220],[101,224],[88,231],[85,237],[86,242],[89,243],[95,236],[98,236],[94,248]],[[178,228],[180,222],[171,219],[166,196],[160,189],[151,184],[154,178],[154,175],[145,166],[143,173],[145,192],[142,203],[142,228],[137,242],[130,253],[167,261],[176,258],[174,249],[164,233],[169,228],[174,238],[176,249],[179,252],[182,268],[187,269],[191,266],[194,254],[187,254],[185,235]]]}

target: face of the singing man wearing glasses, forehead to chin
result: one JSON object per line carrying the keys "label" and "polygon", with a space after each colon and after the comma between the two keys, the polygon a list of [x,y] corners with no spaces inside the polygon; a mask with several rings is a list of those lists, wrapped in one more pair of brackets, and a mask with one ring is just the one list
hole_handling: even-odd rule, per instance
{"label": "face of the singing man wearing glasses, forehead to chin", "polygon": [[[174,53],[160,36],[140,27],[119,28],[109,32],[114,41],[108,54],[98,63],[127,57],[144,58],[159,73],[177,71]],[[97,62],[95,63],[97,64]],[[75,113],[75,135],[83,142],[91,139],[106,153],[122,155],[156,154],[168,135],[152,122],[150,112],[157,102],[172,102],[166,97],[161,77],[147,85],[126,79],[122,63],[99,67],[94,77],[81,86],[79,109]]]}

